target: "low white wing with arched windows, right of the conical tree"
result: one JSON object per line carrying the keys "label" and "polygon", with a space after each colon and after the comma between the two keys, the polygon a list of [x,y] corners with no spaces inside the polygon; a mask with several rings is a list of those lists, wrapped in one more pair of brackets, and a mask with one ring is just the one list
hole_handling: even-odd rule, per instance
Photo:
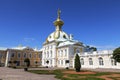
{"label": "low white wing with arched windows, right of the conical tree", "polygon": [[120,69],[120,63],[113,59],[113,50],[84,52],[80,55],[82,68],[114,68]]}

